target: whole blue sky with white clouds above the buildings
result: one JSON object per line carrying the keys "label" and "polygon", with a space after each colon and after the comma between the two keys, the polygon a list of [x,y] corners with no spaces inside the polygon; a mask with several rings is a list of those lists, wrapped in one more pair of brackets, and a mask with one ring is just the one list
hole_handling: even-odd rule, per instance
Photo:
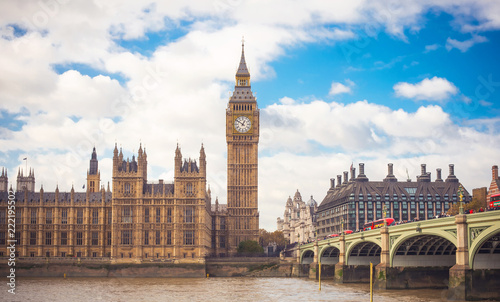
{"label": "whole blue sky with white clouds above the buildings", "polygon": [[[85,183],[115,143],[173,181],[176,144],[207,153],[226,202],[225,108],[241,39],[258,97],[261,227],[289,195],[321,202],[365,163],[371,180],[420,164],[471,191],[500,163],[500,2],[34,0],[0,4],[0,166],[36,190]],[[14,183],[15,187],[15,183]]]}

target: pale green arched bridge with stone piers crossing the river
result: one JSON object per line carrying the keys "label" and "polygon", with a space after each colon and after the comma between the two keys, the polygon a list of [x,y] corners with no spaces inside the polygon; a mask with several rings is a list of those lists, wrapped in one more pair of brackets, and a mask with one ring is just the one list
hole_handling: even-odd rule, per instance
{"label": "pale green arched bridge with stone piers crossing the river", "polygon": [[[296,248],[310,278],[376,289],[448,288],[449,300],[499,299],[500,211],[405,223]],[[321,268],[320,268],[321,267]],[[444,297],[443,297],[444,298]]]}

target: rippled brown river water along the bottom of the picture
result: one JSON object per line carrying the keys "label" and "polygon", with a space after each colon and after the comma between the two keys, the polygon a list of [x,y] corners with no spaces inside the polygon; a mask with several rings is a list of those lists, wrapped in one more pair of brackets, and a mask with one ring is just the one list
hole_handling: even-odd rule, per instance
{"label": "rippled brown river water along the bottom of the picture", "polygon": [[[369,301],[368,284],[298,278],[18,278],[0,301]],[[380,291],[374,301],[443,301],[445,290]]]}

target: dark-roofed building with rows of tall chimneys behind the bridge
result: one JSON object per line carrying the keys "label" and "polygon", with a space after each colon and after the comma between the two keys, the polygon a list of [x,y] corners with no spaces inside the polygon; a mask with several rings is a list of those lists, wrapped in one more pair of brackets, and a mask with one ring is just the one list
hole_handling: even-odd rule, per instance
{"label": "dark-roofed building with rows of tall chimneys behind the bridge", "polygon": [[[330,189],[318,207],[318,236],[339,233],[342,230],[362,229],[367,222],[386,217],[397,221],[414,219],[425,220],[435,217],[459,202],[458,189],[460,183],[454,174],[454,166],[449,165],[449,175],[441,179],[441,169],[437,169],[435,181],[426,172],[426,165],[421,165],[421,175],[417,181],[398,181],[393,174],[392,164],[388,165],[388,174],[382,181],[370,181],[364,172],[364,164],[359,164],[360,174],[356,177],[356,169],[344,172],[330,180]],[[471,196],[464,189],[464,202]]]}

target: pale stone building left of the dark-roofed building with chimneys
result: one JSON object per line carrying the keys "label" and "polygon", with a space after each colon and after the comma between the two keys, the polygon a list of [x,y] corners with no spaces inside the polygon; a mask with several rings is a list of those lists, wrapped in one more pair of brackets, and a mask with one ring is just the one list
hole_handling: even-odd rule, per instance
{"label": "pale stone building left of the dark-roofed building with chimneys", "polygon": [[288,197],[283,219],[278,217],[278,231],[282,231],[289,243],[304,243],[315,238],[316,211],[318,204],[313,199],[306,203],[302,201],[299,190],[295,192],[293,200]]}

